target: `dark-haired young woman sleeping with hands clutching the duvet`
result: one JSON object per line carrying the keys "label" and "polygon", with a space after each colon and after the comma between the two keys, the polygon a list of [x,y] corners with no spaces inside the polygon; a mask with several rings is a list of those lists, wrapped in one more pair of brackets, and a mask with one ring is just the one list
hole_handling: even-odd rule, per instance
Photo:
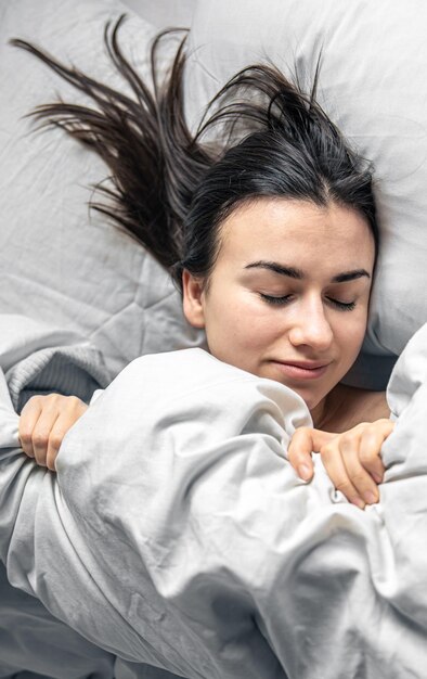
{"label": "dark-haired young woman sleeping with hands clutching the duvet", "polygon": [[[365,334],[378,249],[370,167],[315,103],[315,85],[306,97],[270,66],[232,78],[192,136],[183,42],[160,86],[156,40],[152,94],[120,51],[121,21],[105,40],[133,98],[15,41],[95,104],[56,103],[35,115],[106,162],[113,184],[101,191],[109,204],[94,207],[170,271],[209,351],[303,398],[315,428],[297,431],[289,446],[300,476],[311,478],[311,452],[320,451],[351,502],[377,501],[378,453],[392,430],[385,396],[340,384]],[[221,142],[204,141],[212,130]],[[31,399],[20,425],[25,452],[54,469],[85,410],[59,395]]]}

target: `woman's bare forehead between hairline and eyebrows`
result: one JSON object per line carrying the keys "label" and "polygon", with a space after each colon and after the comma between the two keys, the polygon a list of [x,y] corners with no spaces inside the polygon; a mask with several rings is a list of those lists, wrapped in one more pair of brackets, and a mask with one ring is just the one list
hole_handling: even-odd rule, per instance
{"label": "woman's bare forehead between hairline and eyebrows", "polygon": [[[308,201],[259,198],[237,207],[221,228],[218,265],[254,259],[283,261],[301,269],[372,269],[374,239],[355,210]],[[327,271],[326,271],[327,269]]]}

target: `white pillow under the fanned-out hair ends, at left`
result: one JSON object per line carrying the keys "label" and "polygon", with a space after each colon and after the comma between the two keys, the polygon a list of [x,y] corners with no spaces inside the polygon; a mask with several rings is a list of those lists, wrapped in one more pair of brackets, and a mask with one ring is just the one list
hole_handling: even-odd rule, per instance
{"label": "white pillow under the fanned-out hair ends, at left", "polygon": [[59,95],[85,103],[82,95],[8,41],[27,39],[124,88],[103,42],[105,22],[122,12],[129,21],[121,44],[147,77],[158,29],[117,0],[0,5],[0,315],[75,331],[102,350],[112,375],[141,354],[199,344],[200,333],[184,321],[179,294],[159,265],[104,217],[89,214],[90,184],[108,174],[98,156],[61,130],[34,132],[23,117]]}

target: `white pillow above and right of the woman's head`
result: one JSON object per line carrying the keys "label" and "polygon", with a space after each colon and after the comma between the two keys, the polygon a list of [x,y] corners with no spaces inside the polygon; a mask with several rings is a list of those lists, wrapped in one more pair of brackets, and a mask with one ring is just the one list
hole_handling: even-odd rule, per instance
{"label": "white pillow above and right of the woman's head", "polygon": [[381,247],[365,358],[387,374],[427,319],[427,4],[422,0],[199,0],[186,69],[189,120],[240,68],[270,59],[310,82],[322,51],[319,98],[376,167]]}

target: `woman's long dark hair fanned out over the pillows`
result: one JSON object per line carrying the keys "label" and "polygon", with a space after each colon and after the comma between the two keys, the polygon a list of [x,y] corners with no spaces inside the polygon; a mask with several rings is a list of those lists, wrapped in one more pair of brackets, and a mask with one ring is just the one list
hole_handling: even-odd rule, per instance
{"label": "woman's long dark hair fanned out over the pillows", "polygon": [[[372,171],[315,102],[318,69],[307,95],[271,65],[244,68],[210,102],[192,134],[182,101],[185,37],[164,82],[158,81],[157,51],[170,31],[155,39],[151,91],[118,44],[124,18],[106,25],[104,40],[133,97],[26,41],[12,41],[95,104],[60,101],[31,113],[42,126],[60,126],[94,149],[109,167],[112,185],[98,187],[108,202],[92,202],[92,207],[142,243],[180,286],[183,269],[208,280],[220,225],[243,202],[261,196],[348,206],[365,218],[377,252]],[[214,129],[217,144],[204,141]]]}

